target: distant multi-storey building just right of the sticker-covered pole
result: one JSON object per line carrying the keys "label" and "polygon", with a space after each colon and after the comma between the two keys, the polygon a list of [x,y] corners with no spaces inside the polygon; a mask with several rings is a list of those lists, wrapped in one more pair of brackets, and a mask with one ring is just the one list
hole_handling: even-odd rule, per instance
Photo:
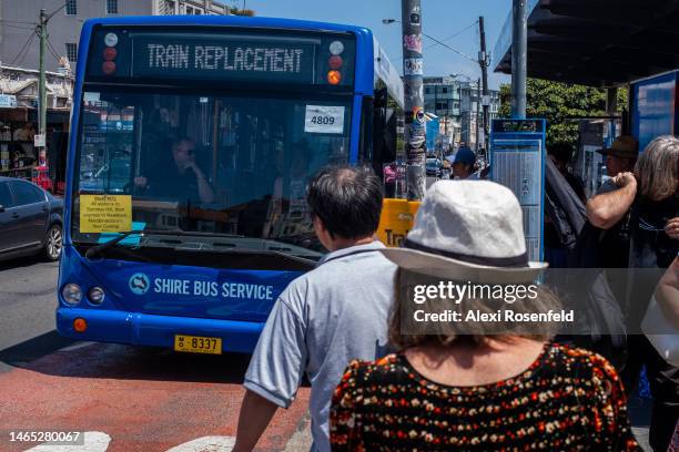
{"label": "distant multi-storey building just right of the sticker-covered pole", "polygon": [[[478,83],[462,81],[449,75],[425,76],[424,96],[425,111],[439,117],[440,133],[457,145],[463,143],[476,148],[479,141],[476,132],[477,123],[479,130],[483,130],[483,106],[479,103]],[[497,116],[499,110],[499,91],[488,90],[488,104],[489,119],[493,119]],[[483,147],[483,142],[479,146]]]}

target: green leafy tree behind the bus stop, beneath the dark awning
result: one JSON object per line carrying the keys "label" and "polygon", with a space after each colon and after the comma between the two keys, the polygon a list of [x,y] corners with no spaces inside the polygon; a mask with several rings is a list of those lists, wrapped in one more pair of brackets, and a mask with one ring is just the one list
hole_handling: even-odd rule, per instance
{"label": "green leafy tree behind the bus stop, beneath the dark awning", "polygon": [[[618,90],[618,112],[627,106],[627,90]],[[500,86],[498,116],[511,115],[511,88]],[[547,120],[547,146],[557,142],[572,145],[578,140],[577,121],[569,117],[605,116],[606,91],[591,86],[528,79],[526,83],[526,117]]]}

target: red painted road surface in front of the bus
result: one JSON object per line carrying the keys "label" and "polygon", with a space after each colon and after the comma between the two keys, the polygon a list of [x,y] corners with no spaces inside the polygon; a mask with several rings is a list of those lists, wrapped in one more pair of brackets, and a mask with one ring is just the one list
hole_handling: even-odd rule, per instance
{"label": "red painted road surface in front of the bus", "polygon": [[[109,451],[165,451],[207,435],[235,436],[249,357],[180,355],[89,345],[0,373],[0,451],[10,430],[101,431]],[[282,450],[303,427],[308,389],[278,410],[259,451]]]}

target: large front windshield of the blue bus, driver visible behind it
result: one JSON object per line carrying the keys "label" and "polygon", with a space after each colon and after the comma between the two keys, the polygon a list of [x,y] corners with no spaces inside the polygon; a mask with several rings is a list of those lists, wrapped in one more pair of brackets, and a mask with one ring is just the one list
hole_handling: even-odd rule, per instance
{"label": "large front windshield of the blue bus, driver visible behind it", "polygon": [[[81,233],[81,194],[130,195],[133,229],[200,233],[191,238],[200,249],[216,246],[212,236],[229,235],[231,250],[262,249],[267,243],[285,244],[280,249],[290,254],[321,256],[306,184],[321,167],[348,162],[349,100],[85,89],[73,242],[97,244],[105,236]],[[175,247],[185,237],[134,245],[143,253],[144,246]]]}

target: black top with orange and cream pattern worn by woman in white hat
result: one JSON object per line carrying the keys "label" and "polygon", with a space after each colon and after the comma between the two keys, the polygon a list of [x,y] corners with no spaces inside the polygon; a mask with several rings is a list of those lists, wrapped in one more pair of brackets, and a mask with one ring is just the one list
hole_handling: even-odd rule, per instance
{"label": "black top with orange and cream pattern worn by woman in white hat", "polygon": [[353,361],[333,396],[333,451],[635,451],[622,383],[598,355],[549,343],[523,373],[449,387],[403,353]]}

